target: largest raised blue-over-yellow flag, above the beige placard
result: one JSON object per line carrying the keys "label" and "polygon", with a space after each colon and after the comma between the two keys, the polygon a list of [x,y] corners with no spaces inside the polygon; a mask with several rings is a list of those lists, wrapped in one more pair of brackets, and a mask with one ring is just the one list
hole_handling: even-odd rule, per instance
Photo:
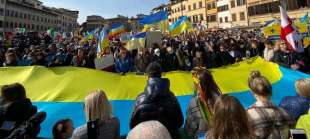
{"label": "largest raised blue-over-yellow flag, above the beige placard", "polygon": [[146,16],[139,20],[139,24],[142,26],[152,27],[157,30],[167,31],[169,28],[168,12],[160,11],[158,13]]}

